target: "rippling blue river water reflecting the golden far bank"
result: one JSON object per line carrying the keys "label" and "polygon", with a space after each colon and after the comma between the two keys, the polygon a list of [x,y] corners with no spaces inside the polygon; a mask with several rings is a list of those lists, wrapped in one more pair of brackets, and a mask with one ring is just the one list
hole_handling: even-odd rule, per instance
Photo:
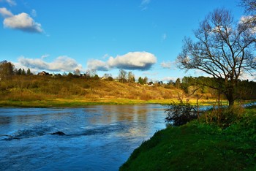
{"label": "rippling blue river water reflecting the golden far bank", "polygon": [[0,108],[0,170],[118,170],[165,128],[164,111],[157,104]]}

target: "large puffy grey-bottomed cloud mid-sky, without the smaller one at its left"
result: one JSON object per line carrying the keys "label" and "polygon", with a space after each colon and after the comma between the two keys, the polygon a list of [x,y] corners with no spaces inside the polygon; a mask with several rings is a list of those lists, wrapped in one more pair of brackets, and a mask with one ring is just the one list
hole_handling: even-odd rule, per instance
{"label": "large puffy grey-bottomed cloud mid-sky, without the smaller one at its left", "polygon": [[108,66],[118,69],[148,70],[157,62],[156,56],[147,52],[129,52],[124,56],[110,57]]}

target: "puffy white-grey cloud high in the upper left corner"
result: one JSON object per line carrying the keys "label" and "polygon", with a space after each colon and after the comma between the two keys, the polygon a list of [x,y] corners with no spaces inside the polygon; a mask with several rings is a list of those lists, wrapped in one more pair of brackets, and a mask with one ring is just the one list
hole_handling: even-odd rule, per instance
{"label": "puffy white-grey cloud high in the upper left corner", "polygon": [[22,12],[13,15],[6,8],[0,8],[0,14],[4,17],[4,27],[18,29],[26,32],[42,33],[42,26],[36,23],[27,13]]}

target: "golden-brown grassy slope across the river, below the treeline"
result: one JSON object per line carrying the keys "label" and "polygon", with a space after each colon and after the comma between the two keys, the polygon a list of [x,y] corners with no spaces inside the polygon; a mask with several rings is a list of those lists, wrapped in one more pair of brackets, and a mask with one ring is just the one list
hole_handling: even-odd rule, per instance
{"label": "golden-brown grassy slope across the river, below the treeline", "polygon": [[[44,101],[86,103],[167,103],[185,96],[175,86],[86,79],[84,77],[14,76],[2,80],[0,105],[29,105]],[[55,102],[58,101],[58,102]],[[21,102],[23,104],[21,104]],[[29,102],[29,104],[24,104]],[[47,105],[47,104],[45,104]],[[79,104],[78,104],[79,105]]]}

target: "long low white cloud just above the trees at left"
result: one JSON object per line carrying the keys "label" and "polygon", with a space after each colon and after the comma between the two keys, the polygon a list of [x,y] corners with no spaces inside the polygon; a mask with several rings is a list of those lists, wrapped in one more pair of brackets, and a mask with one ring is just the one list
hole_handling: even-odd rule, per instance
{"label": "long low white cloud just above the trees at left", "polygon": [[82,66],[73,58],[59,56],[53,62],[45,62],[42,58],[18,58],[18,62],[28,68],[37,70],[48,70],[52,72],[72,72],[75,69],[82,70]]}

